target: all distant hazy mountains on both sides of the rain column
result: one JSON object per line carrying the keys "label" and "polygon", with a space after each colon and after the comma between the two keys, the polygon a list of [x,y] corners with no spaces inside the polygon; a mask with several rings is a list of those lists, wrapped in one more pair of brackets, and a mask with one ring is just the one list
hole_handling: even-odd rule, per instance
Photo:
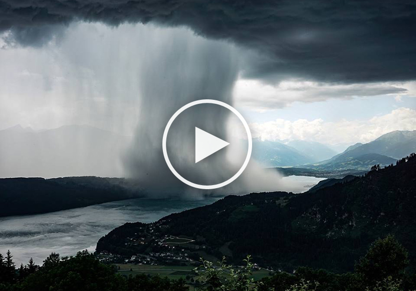
{"label": "all distant hazy mountains on both sides of the rain column", "polygon": [[[123,177],[122,157],[130,139],[87,125],[0,130],[0,177]],[[312,176],[341,177],[368,171],[375,164],[389,165],[415,151],[416,130],[393,131],[351,145],[341,154],[319,142],[253,139],[252,157],[268,168],[299,167]],[[339,175],[332,175],[335,172]]]}

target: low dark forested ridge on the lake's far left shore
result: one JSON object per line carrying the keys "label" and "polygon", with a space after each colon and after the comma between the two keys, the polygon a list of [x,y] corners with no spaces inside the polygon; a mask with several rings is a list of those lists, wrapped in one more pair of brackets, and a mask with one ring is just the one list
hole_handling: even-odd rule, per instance
{"label": "low dark forested ridge on the lake's far left shore", "polygon": [[46,213],[137,198],[141,189],[121,178],[0,179],[0,217]]}

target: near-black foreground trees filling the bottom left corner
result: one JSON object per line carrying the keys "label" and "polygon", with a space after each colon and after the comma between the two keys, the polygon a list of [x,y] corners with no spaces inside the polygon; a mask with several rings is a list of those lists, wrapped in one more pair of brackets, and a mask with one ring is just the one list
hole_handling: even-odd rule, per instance
{"label": "near-black foreground trees filling the bottom left corner", "polygon": [[74,257],[60,257],[52,253],[42,266],[31,259],[27,265],[16,268],[12,254],[0,257],[1,291],[182,291],[184,282],[146,275],[123,277],[116,268],[105,265],[88,251]]}

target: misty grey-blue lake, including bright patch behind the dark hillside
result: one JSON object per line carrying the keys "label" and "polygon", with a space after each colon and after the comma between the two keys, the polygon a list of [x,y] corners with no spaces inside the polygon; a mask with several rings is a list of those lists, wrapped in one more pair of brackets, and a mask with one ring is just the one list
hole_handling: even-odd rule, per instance
{"label": "misty grey-blue lake, including bright patch behind the dark hillside", "polygon": [[[320,178],[289,176],[284,181],[289,190],[304,192]],[[215,202],[180,199],[130,199],[52,213],[0,218],[0,253],[11,250],[16,265],[33,257],[37,264],[51,253],[74,255],[95,250],[97,241],[126,222],[153,222],[171,213]]]}

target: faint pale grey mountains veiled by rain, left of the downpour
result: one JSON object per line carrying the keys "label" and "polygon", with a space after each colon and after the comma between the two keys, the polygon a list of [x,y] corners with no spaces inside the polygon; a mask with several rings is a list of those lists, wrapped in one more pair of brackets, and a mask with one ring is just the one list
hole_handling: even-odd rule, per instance
{"label": "faint pale grey mountains veiled by rain, left of the downpour", "polygon": [[123,177],[129,138],[87,125],[0,130],[0,177]]}

